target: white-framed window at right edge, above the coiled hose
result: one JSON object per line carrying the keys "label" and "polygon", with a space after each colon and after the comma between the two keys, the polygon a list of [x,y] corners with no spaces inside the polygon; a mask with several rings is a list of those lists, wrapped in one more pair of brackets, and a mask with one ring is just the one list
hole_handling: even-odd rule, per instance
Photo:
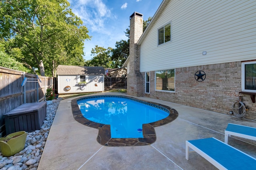
{"label": "white-framed window at right edge, above the coiled hose", "polygon": [[256,61],[242,63],[242,91],[256,92]]}

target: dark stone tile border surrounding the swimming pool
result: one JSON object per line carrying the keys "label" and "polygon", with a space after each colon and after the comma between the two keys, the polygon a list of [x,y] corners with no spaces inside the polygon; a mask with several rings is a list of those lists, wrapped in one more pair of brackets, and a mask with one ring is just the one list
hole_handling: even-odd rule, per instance
{"label": "dark stone tile border surrounding the swimming pool", "polygon": [[[90,121],[83,117],[77,101],[81,99],[88,99],[88,98],[96,98],[96,97],[122,97],[127,99],[132,99],[138,102],[142,102],[144,104],[149,104],[153,107],[158,107],[159,109],[166,109],[169,111],[168,117],[165,119],[162,119],[160,121],[156,121],[153,123],[143,124],[142,130],[143,130],[143,138],[111,138],[110,134],[110,125],[105,125],[101,123],[96,123],[93,121]],[[98,136],[97,136],[97,142],[100,143],[103,146],[145,146],[150,145],[156,141],[156,132],[154,127],[159,127],[162,125],[166,125],[167,123],[170,123],[174,121],[178,117],[178,112],[166,105],[162,105],[159,103],[154,103],[150,101],[144,101],[141,99],[136,99],[134,97],[127,97],[127,96],[121,96],[121,95],[95,95],[95,96],[88,96],[88,97],[80,97],[77,99],[73,99],[71,101],[71,107],[72,107],[72,113],[74,119],[81,123],[82,125],[97,128]]]}

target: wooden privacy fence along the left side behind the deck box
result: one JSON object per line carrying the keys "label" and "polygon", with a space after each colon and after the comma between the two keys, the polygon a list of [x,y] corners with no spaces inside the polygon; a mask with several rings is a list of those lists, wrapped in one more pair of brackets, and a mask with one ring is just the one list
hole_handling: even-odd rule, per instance
{"label": "wooden privacy fence along the left side behind the deck box", "polygon": [[[28,81],[22,87],[24,77],[28,78]],[[36,81],[38,78],[41,82]],[[24,103],[43,101],[46,89],[52,87],[53,77],[37,77],[34,74],[0,67],[0,136],[4,127],[4,114]]]}

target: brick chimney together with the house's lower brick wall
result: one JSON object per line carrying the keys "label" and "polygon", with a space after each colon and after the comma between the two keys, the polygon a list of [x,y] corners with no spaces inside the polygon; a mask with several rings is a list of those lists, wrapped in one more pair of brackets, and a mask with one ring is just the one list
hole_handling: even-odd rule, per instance
{"label": "brick chimney together with the house's lower brick wall", "polygon": [[[175,92],[155,90],[155,71],[150,72],[150,94],[145,94],[145,73],[140,73],[140,47],[143,32],[142,14],[130,16],[130,54],[127,74],[127,93],[136,97],[151,97],[204,110],[227,114],[234,102],[242,101],[249,107],[246,119],[256,119],[256,104],[250,95],[241,91],[241,62],[200,65],[175,69]],[[206,79],[196,81],[195,73],[204,71]]]}

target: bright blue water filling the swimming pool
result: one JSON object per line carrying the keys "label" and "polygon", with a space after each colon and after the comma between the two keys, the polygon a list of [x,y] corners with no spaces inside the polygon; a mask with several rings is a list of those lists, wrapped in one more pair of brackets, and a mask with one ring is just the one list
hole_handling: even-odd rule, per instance
{"label": "bright blue water filling the swimming pool", "polygon": [[77,101],[82,115],[96,123],[110,125],[111,138],[143,138],[142,124],[166,118],[157,107],[122,97],[97,97]]}

